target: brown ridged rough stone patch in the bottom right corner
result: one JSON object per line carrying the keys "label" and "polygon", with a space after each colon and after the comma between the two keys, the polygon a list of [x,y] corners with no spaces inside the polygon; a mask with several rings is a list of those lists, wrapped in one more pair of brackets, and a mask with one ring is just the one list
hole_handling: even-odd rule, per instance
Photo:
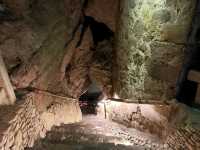
{"label": "brown ridged rough stone patch in the bottom right corner", "polygon": [[180,107],[182,113],[187,113],[187,118],[184,122],[176,125],[173,132],[166,138],[165,144],[169,149],[200,149],[200,112],[185,105],[180,105]]}

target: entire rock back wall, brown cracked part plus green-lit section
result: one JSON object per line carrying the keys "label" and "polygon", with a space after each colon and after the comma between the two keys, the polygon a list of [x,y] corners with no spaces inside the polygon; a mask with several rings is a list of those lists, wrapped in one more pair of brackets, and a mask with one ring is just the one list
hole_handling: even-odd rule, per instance
{"label": "entire rock back wall, brown cracked part plus green-lit section", "polygon": [[0,49],[15,89],[78,98],[93,81],[109,97],[169,100],[195,5],[5,0]]}

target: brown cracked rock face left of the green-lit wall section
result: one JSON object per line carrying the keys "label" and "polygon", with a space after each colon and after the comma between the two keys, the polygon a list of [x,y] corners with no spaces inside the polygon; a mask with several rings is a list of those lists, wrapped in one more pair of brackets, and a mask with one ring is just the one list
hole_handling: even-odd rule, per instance
{"label": "brown cracked rock face left of the green-lit wall section", "polygon": [[[78,98],[95,80],[109,93],[111,67],[104,65],[112,63],[112,37],[94,45],[93,30],[104,23],[115,30],[116,1],[4,1],[2,6],[14,18],[1,23],[0,49],[15,89],[31,87]],[[85,16],[96,24],[85,25]],[[99,58],[102,55],[106,59]]]}

